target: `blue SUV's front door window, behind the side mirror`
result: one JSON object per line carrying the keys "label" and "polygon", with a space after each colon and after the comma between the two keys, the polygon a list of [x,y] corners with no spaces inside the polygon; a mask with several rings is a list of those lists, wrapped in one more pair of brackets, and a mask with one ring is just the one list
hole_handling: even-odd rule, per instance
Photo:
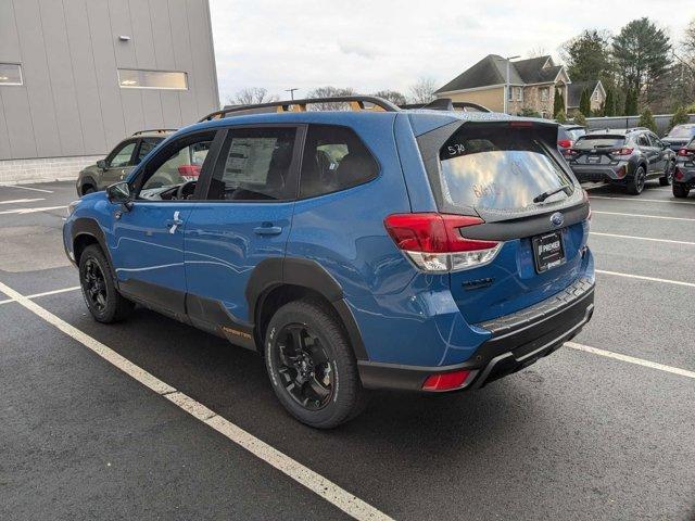
{"label": "blue SUV's front door window, behind the side mirror", "polygon": [[169,143],[147,163],[140,190],[173,187],[198,180],[214,138],[215,132],[203,132]]}

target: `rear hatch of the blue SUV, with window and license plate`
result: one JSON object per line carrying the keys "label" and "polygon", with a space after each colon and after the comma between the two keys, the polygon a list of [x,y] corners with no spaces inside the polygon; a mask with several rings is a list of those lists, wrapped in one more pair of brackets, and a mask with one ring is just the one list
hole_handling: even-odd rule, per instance
{"label": "rear hatch of the blue SUV, with window and license plate", "polygon": [[465,123],[439,149],[437,170],[426,161],[440,212],[484,221],[462,236],[502,242],[488,264],[450,275],[470,323],[533,305],[582,272],[589,202],[556,142],[553,124]]}

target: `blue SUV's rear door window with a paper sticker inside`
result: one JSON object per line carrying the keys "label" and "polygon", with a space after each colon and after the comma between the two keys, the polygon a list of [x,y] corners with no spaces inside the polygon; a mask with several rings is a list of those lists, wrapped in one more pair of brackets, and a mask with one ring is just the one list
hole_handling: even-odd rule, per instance
{"label": "blue SUV's rear door window with a paper sticker inside", "polygon": [[296,129],[231,129],[210,182],[213,201],[286,201],[295,198],[290,179]]}

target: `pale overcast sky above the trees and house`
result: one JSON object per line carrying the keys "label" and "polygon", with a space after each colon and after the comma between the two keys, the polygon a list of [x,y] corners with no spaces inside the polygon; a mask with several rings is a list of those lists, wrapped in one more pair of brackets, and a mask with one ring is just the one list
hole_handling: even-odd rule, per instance
{"label": "pale overcast sky above the trees and house", "polygon": [[[244,87],[282,99],[298,87],[407,93],[420,76],[445,84],[486,54],[558,55],[584,28],[618,33],[648,16],[680,39],[695,0],[210,0],[223,103]],[[350,7],[348,7],[350,5]],[[295,97],[296,97],[295,96]]]}

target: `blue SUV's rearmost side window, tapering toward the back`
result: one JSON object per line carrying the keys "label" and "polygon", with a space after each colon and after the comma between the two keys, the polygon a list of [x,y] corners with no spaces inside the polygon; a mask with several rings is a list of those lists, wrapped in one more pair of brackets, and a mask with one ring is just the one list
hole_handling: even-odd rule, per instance
{"label": "blue SUV's rearmost side window, tapering toward the back", "polygon": [[353,130],[309,126],[302,158],[301,199],[356,187],[378,174],[379,165]]}

